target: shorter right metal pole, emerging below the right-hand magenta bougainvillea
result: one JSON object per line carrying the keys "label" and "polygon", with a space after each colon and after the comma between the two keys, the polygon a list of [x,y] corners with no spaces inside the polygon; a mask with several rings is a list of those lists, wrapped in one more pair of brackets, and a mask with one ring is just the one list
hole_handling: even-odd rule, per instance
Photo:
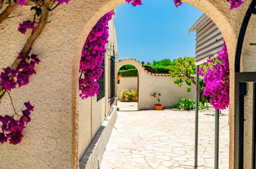
{"label": "shorter right metal pole, emerging below the right-hand magenta bougainvillea", "polygon": [[219,168],[219,125],[220,110],[215,109],[214,168]]}

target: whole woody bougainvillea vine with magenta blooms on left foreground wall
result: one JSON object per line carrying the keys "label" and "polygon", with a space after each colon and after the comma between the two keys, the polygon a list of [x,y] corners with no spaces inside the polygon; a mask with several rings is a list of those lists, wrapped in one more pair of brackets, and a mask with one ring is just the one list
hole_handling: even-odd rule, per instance
{"label": "whole woody bougainvillea vine with magenta blooms on left foreground wall", "polygon": [[[38,24],[37,26],[41,26],[38,30],[39,32],[42,31],[44,28],[44,25],[46,24],[46,18],[48,16],[48,11],[52,11],[55,9],[58,5],[67,3],[70,0],[56,0],[51,1],[52,3],[49,5],[50,1],[37,1],[35,2],[36,6],[31,7],[31,10],[35,10],[34,19],[33,21],[26,20],[22,24],[19,24],[18,31],[25,34],[27,32],[27,29],[38,30],[35,26],[35,23]],[[0,4],[3,1],[0,0]],[[8,0],[7,0],[8,2]],[[10,2],[10,6],[13,7],[11,10],[15,9],[15,5],[23,6],[25,3],[27,3],[28,0],[16,0],[14,2]],[[56,4],[57,3],[57,4]],[[52,8],[52,6],[55,5],[55,7]],[[45,7],[42,9],[42,7]],[[6,10],[3,12],[5,13]],[[35,22],[36,16],[40,16],[42,13],[44,13],[44,17],[42,19],[39,18],[39,22]],[[9,14],[6,14],[5,16],[8,17]],[[3,21],[3,19],[0,21],[0,23]],[[38,59],[36,54],[27,55],[24,53],[29,53],[31,46],[33,44],[33,41],[40,35],[40,33],[32,34],[30,38],[28,39],[28,43],[23,48],[23,53],[19,53],[18,57],[14,61],[11,68],[7,67],[3,69],[3,72],[0,74],[0,90],[4,90],[4,92],[0,95],[0,98],[4,96],[5,93],[8,93],[12,108],[14,110],[14,114],[12,116],[0,115],[0,142],[3,144],[5,142],[8,142],[10,144],[18,144],[22,141],[22,131],[26,128],[25,124],[31,121],[30,113],[33,111],[34,106],[30,104],[30,101],[25,102],[26,109],[22,111],[22,115],[19,115],[14,107],[11,95],[9,91],[11,91],[14,88],[19,88],[24,85],[27,85],[29,83],[29,77],[33,74],[36,74],[34,68],[35,65],[38,64],[41,60]],[[31,43],[32,41],[32,43]],[[28,45],[29,44],[29,45]],[[24,50],[26,49],[26,50]],[[16,118],[14,118],[16,117]]]}

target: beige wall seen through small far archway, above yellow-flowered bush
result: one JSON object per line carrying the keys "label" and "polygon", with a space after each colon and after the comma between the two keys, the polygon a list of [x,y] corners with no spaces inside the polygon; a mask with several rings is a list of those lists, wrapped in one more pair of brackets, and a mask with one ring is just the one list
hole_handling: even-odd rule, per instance
{"label": "beige wall seen through small far archway, above yellow-flowered bush", "polygon": [[121,92],[124,89],[138,89],[138,78],[137,77],[122,77],[120,83],[117,83],[117,100],[121,100]]}

